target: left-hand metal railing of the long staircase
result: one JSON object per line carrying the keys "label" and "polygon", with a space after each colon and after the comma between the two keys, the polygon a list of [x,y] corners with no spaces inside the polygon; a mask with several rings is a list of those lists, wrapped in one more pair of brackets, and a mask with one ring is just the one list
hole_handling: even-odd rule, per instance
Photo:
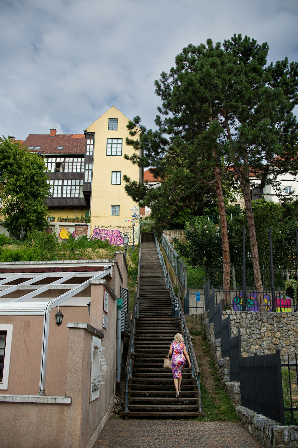
{"label": "left-hand metal railing of the long staircase", "polygon": [[[142,231],[142,227],[141,227]],[[135,334],[135,318],[139,317],[139,290],[140,290],[140,269],[141,269],[141,252],[142,252],[142,232],[140,234],[140,245],[139,245],[139,266],[138,266],[138,280],[137,280],[137,291],[134,294],[134,308],[132,312],[131,327],[130,327],[130,340],[128,345],[126,366],[125,366],[125,411],[128,412],[128,382],[131,378],[132,373],[132,360],[131,355],[134,352],[134,334]]]}

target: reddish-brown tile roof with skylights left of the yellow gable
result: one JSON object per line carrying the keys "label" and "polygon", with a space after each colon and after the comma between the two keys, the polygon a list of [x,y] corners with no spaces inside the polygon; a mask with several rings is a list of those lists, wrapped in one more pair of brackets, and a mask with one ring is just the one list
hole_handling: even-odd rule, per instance
{"label": "reddish-brown tile roof with skylights left of the yellow gable", "polygon": [[[56,134],[54,137],[50,137],[49,134],[29,134],[23,146],[41,146],[40,149],[31,149],[30,151],[43,154],[84,154],[85,135]],[[57,149],[58,146],[63,146],[63,149]]]}

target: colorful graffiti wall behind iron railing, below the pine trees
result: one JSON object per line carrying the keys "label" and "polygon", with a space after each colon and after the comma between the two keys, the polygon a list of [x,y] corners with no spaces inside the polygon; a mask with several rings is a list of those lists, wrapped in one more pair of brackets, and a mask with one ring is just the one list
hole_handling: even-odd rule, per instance
{"label": "colorful graffiti wall behind iron railing, below the pine trees", "polygon": [[[249,293],[246,298],[246,309],[247,311],[259,311],[258,304],[256,302],[256,291]],[[234,311],[243,310],[243,293],[237,294],[232,301],[232,306]],[[291,298],[286,294],[278,295],[275,297],[275,306],[277,311],[291,311]],[[264,307],[262,311],[272,311],[270,295],[264,294]]]}

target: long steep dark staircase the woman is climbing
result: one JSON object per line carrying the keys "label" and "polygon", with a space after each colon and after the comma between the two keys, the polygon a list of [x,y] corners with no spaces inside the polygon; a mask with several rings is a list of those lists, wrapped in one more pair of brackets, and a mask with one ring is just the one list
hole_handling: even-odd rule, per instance
{"label": "long steep dark staircase the woman is climbing", "polygon": [[154,237],[142,235],[139,288],[139,317],[136,318],[132,378],[129,380],[129,412],[125,418],[194,418],[198,416],[197,383],[191,370],[184,369],[180,398],[175,398],[171,370],[164,358],[176,333],[180,318],[172,318],[172,304],[166,288]]}

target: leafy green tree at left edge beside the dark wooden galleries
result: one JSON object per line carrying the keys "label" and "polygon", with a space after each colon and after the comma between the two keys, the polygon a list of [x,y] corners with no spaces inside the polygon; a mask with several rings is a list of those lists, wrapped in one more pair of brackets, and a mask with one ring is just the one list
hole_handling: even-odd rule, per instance
{"label": "leafy green tree at left edge beside the dark wooden galleries", "polygon": [[49,195],[44,159],[9,138],[0,138],[0,183],[4,227],[17,237],[47,225]]}

